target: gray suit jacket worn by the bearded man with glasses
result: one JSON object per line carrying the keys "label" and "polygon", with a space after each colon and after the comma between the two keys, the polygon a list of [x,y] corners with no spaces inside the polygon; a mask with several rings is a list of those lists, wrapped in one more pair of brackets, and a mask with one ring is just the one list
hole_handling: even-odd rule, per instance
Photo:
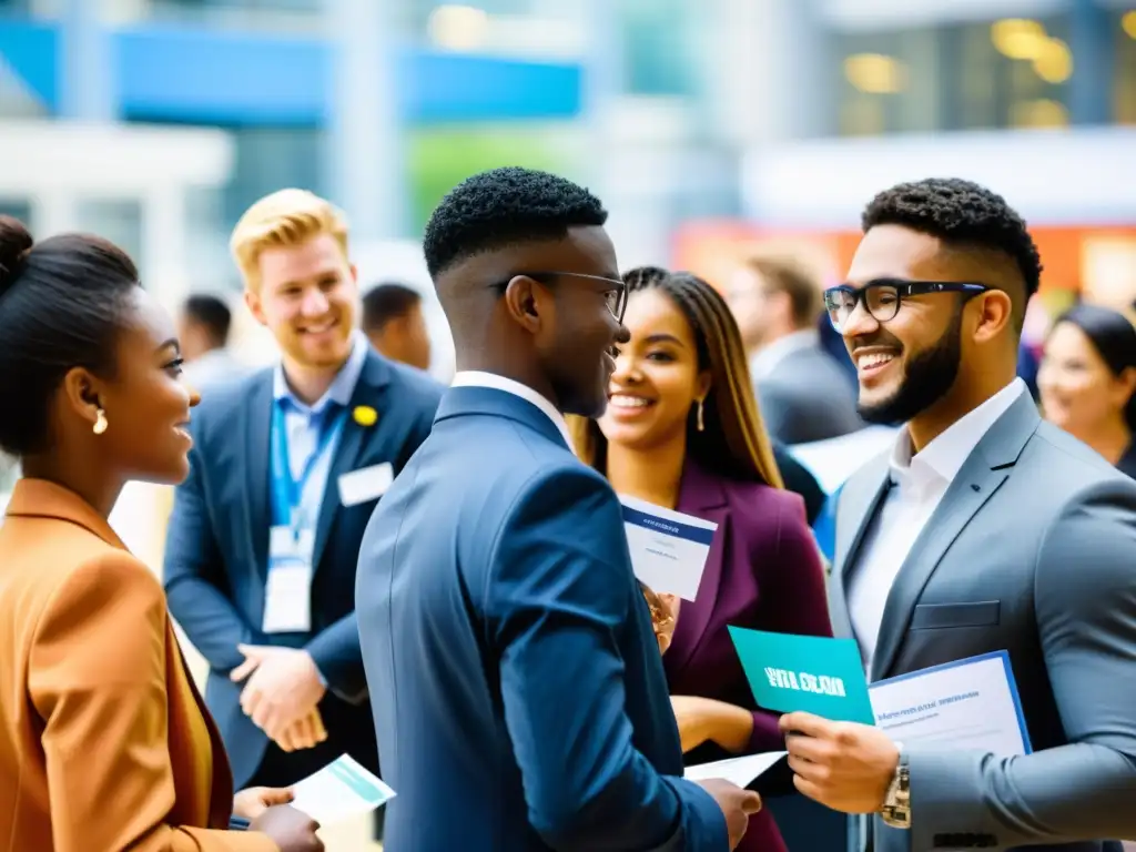
{"label": "gray suit jacket worn by the bearded man with glasses", "polygon": [[[888,486],[880,457],[844,485],[829,587],[847,580]],[[1106,852],[1136,837],[1136,482],[1043,423],[1028,394],[970,453],[888,594],[871,680],[1005,650],[1034,753],[912,747],[910,832],[876,852]]]}

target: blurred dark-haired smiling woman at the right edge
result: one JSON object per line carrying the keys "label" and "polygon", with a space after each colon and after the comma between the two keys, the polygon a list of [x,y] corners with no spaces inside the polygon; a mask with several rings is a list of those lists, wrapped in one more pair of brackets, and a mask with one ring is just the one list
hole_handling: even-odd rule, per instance
{"label": "blurred dark-haired smiling woman at the right edge", "polygon": [[1136,327],[1078,304],[1058,317],[1037,376],[1045,419],[1136,477]]}

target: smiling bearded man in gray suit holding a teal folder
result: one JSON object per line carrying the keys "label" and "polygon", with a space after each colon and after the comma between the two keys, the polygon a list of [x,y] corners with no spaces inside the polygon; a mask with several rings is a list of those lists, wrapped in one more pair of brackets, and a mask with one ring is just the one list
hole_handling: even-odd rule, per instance
{"label": "smiling bearded man in gray suit holding a teal folder", "polygon": [[1136,837],[1136,483],[1014,377],[1041,262],[1000,197],[905,184],[863,227],[826,304],[861,412],[907,427],[841,492],[833,626],[870,680],[1008,651],[1033,753],[790,713],[796,786],[876,815],[852,849],[1119,852],[1102,838]]}

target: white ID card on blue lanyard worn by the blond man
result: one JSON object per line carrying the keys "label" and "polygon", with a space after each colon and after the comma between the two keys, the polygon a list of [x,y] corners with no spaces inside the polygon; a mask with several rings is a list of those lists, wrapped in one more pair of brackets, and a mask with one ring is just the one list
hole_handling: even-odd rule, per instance
{"label": "white ID card on blue lanyard worn by the blond man", "polygon": [[273,408],[272,421],[272,508],[273,526],[268,533],[268,583],[265,588],[265,633],[309,633],[311,630],[312,551],[316,544],[316,517],[304,511],[304,488],[321,457],[343,431],[346,411],[324,412],[316,446],[303,463],[300,478],[292,475],[287,431],[282,402]]}

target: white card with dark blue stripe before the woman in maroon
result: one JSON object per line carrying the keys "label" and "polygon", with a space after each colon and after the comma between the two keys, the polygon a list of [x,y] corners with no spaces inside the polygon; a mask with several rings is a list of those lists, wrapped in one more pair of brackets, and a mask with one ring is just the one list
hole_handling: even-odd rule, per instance
{"label": "white card with dark blue stripe before the woman in maroon", "polygon": [[718,525],[637,498],[619,499],[635,576],[654,592],[693,601]]}

